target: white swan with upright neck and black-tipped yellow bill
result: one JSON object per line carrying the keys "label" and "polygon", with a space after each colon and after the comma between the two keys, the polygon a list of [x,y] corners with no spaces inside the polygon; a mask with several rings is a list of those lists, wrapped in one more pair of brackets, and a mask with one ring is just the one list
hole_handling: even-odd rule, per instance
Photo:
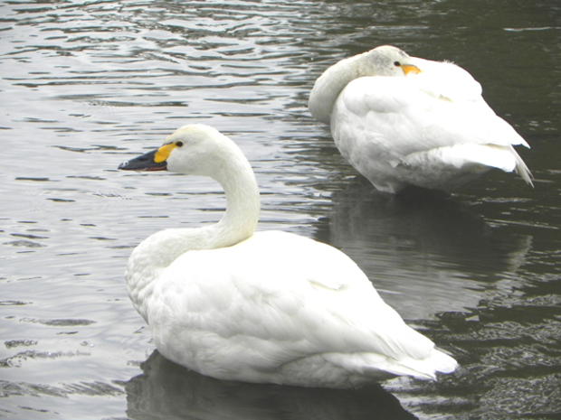
{"label": "white swan with upright neck and black-tipped yellow bill", "polygon": [[342,252],[287,232],[253,233],[252,167],[214,128],[183,126],[119,169],[206,175],[226,194],[218,223],[159,231],[128,261],[128,294],[167,359],[214,378],[307,387],[456,368]]}

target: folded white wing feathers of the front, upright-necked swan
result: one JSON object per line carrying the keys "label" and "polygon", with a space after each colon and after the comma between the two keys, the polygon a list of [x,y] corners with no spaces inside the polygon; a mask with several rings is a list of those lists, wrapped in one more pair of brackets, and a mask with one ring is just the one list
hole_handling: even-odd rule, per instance
{"label": "folded white wing feathers of the front, upright-necked swan", "polygon": [[[260,238],[271,249],[269,257],[252,252],[260,247]],[[283,250],[283,257],[290,257],[290,264],[279,261],[271,247],[275,242]],[[287,252],[289,249],[291,252]],[[222,251],[226,251],[223,257],[217,257]],[[433,366],[415,362],[430,359],[433,342],[408,327],[383,302],[356,264],[337,249],[269,231],[256,233],[235,247],[212,250],[212,261],[222,261],[220,266],[210,259],[207,262],[207,253],[189,252],[178,258],[189,259],[188,265],[184,260],[177,266],[189,266],[191,272],[175,272],[174,265],[170,266],[153,299],[161,304],[181,303],[173,308],[173,318],[182,320],[181,327],[167,328],[178,333],[191,331],[191,337],[196,336],[193,331],[200,331],[197,348],[204,340],[222,339],[223,348],[209,346],[214,359],[231,359],[233,365],[236,358],[251,359],[253,369],[267,371],[329,353],[324,357],[337,361],[338,366],[358,363],[351,371],[367,370],[368,360],[374,358],[384,359],[382,365],[387,365],[389,372],[411,374],[412,369],[416,376],[434,377]],[[252,255],[261,257],[248,258]],[[166,294],[173,296],[166,299]],[[177,294],[184,299],[178,299]],[[152,316],[160,319],[151,317],[152,326],[166,322],[161,313]],[[236,336],[241,338],[237,348]],[[450,359],[437,353],[444,360]],[[371,369],[379,374],[380,363],[371,365]]]}

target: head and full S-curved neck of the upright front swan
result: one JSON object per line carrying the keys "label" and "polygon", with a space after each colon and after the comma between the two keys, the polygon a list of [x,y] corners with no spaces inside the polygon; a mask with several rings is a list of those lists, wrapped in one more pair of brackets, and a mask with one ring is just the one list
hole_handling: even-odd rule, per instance
{"label": "head and full S-curved neck of the upright front swan", "polygon": [[119,169],[208,176],[222,185],[226,196],[226,211],[218,223],[160,230],[134,249],[126,271],[128,294],[149,323],[146,305],[154,282],[177,257],[192,250],[231,247],[252,236],[259,220],[259,187],[240,148],[215,128],[202,124],[178,128],[162,147],[121,163]]}

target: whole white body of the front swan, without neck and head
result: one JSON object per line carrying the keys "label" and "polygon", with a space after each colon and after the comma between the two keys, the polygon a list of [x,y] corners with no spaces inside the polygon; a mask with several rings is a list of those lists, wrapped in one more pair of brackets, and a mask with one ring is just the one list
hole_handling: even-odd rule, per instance
{"label": "whole white body of the front swan, without neck and head", "polygon": [[349,387],[456,367],[384,303],[349,257],[288,232],[184,254],[153,300],[158,350],[214,378]]}

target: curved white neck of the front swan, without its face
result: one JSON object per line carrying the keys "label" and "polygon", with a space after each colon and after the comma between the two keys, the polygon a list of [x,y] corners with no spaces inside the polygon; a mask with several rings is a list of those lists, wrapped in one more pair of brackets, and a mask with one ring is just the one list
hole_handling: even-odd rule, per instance
{"label": "curved white neck of the front swan, without its face", "polygon": [[215,133],[212,140],[195,145],[190,156],[172,155],[167,163],[171,172],[210,176],[219,182],[226,194],[223,218],[204,228],[161,230],[142,241],[128,260],[128,294],[147,321],[147,304],[157,279],[177,257],[193,250],[231,247],[250,238],[257,227],[260,197],[252,166],[237,145]]}

